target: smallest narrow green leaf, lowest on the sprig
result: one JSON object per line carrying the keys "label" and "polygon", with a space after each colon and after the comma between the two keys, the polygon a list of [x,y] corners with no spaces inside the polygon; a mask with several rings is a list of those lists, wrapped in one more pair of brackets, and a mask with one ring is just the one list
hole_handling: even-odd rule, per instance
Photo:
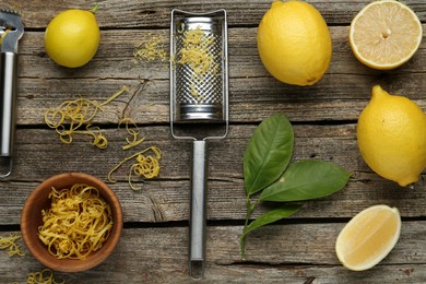
{"label": "smallest narrow green leaf, lowest on the sprig", "polygon": [[299,209],[301,209],[301,206],[303,206],[303,204],[288,203],[288,204],[282,205],[279,209],[273,209],[271,211],[268,211],[267,213],[260,215],[255,221],[252,221],[250,223],[250,225],[248,225],[244,229],[241,238],[245,237],[251,230],[255,230],[261,226],[274,223],[279,220],[282,220],[282,218],[285,218],[285,217],[293,215],[294,213],[299,211]]}

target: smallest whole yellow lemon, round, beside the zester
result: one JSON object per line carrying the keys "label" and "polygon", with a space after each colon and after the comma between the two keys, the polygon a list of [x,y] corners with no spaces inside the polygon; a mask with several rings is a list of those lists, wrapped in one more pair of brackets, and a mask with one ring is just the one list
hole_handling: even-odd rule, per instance
{"label": "smallest whole yellow lemon, round, beside the zester", "polygon": [[45,48],[58,64],[76,68],[96,54],[100,31],[93,11],[71,9],[59,13],[48,24]]}

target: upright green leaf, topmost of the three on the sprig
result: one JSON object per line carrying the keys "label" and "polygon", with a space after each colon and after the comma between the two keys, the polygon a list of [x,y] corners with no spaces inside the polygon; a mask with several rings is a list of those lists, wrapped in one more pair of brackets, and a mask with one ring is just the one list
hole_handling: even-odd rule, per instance
{"label": "upright green leaf, topmost of the three on the sprig", "polygon": [[284,114],[264,119],[244,153],[245,187],[251,196],[274,182],[293,154],[294,132]]}

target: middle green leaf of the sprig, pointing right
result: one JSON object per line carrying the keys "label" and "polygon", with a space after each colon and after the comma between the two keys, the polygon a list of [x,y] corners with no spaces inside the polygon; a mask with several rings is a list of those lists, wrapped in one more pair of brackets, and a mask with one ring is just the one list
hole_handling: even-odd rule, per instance
{"label": "middle green leaf of the sprig, pointing right", "polygon": [[344,188],[351,173],[323,161],[291,164],[283,176],[260,196],[261,201],[298,201],[321,198]]}

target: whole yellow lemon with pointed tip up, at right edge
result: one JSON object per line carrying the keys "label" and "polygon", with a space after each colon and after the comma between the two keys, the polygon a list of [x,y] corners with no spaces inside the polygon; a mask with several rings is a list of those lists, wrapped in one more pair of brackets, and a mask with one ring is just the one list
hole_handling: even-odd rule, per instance
{"label": "whole yellow lemon with pointed tip up, at right edge", "polygon": [[426,168],[426,115],[406,97],[379,85],[357,123],[360,154],[378,175],[405,187]]}

